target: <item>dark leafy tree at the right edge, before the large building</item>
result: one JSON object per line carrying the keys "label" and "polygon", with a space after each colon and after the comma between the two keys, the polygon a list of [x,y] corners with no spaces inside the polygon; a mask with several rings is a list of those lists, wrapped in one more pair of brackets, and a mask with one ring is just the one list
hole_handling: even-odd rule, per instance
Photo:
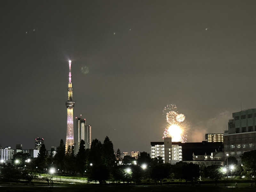
{"label": "dark leafy tree at the right edge, before the large building", "polygon": [[256,184],[256,150],[244,152],[241,160],[244,171],[248,172],[248,174],[254,178],[254,182]]}

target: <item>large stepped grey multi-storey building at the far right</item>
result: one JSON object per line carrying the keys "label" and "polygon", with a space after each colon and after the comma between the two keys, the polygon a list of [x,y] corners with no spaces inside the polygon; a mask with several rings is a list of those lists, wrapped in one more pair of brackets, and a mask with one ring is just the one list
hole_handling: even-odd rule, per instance
{"label": "large stepped grey multi-storey building at the far right", "polygon": [[232,113],[224,132],[224,157],[235,156],[241,162],[244,152],[256,150],[256,108]]}

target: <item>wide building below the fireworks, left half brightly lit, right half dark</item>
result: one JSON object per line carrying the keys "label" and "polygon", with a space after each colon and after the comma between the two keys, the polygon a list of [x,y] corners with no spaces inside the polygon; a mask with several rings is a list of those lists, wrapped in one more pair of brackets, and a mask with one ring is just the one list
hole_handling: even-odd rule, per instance
{"label": "wide building below the fireworks, left half brightly lit, right half dark", "polygon": [[[164,142],[151,142],[151,158],[162,157],[165,163],[175,164],[179,161],[201,161],[201,160],[218,160],[217,164],[223,161],[223,143],[222,142],[195,142],[195,143],[181,143],[172,142],[171,138],[164,138]],[[218,153],[222,152],[222,153]],[[215,154],[216,153],[216,154]],[[198,158],[199,155],[212,154],[212,158]],[[196,155],[195,155],[196,154]],[[214,154],[214,155],[213,155]],[[217,155],[218,154],[218,155]],[[214,158],[213,158],[214,156]],[[194,162],[200,164],[199,162]],[[213,163],[215,164],[215,163]],[[210,165],[210,164],[209,164]]]}

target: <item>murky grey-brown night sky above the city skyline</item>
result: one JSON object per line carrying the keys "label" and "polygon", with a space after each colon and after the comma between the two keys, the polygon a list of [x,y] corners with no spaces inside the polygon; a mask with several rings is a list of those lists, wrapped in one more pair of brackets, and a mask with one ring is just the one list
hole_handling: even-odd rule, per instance
{"label": "murky grey-brown night sky above the city skyline", "polygon": [[161,141],[171,103],[187,117],[188,141],[223,132],[241,102],[256,107],[255,5],[1,1],[0,143],[65,140],[68,59],[74,116],[115,150],[149,151]]}

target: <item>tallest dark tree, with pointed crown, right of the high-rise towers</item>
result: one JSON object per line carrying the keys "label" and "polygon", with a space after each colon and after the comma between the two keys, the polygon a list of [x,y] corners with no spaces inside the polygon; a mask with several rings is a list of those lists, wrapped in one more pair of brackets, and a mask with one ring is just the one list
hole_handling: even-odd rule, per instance
{"label": "tallest dark tree, with pointed crown, right of the high-rise towers", "polygon": [[116,156],[114,153],[113,143],[109,140],[108,136],[105,137],[102,145],[102,159],[103,164],[105,164],[108,168],[113,168],[116,161]]}

